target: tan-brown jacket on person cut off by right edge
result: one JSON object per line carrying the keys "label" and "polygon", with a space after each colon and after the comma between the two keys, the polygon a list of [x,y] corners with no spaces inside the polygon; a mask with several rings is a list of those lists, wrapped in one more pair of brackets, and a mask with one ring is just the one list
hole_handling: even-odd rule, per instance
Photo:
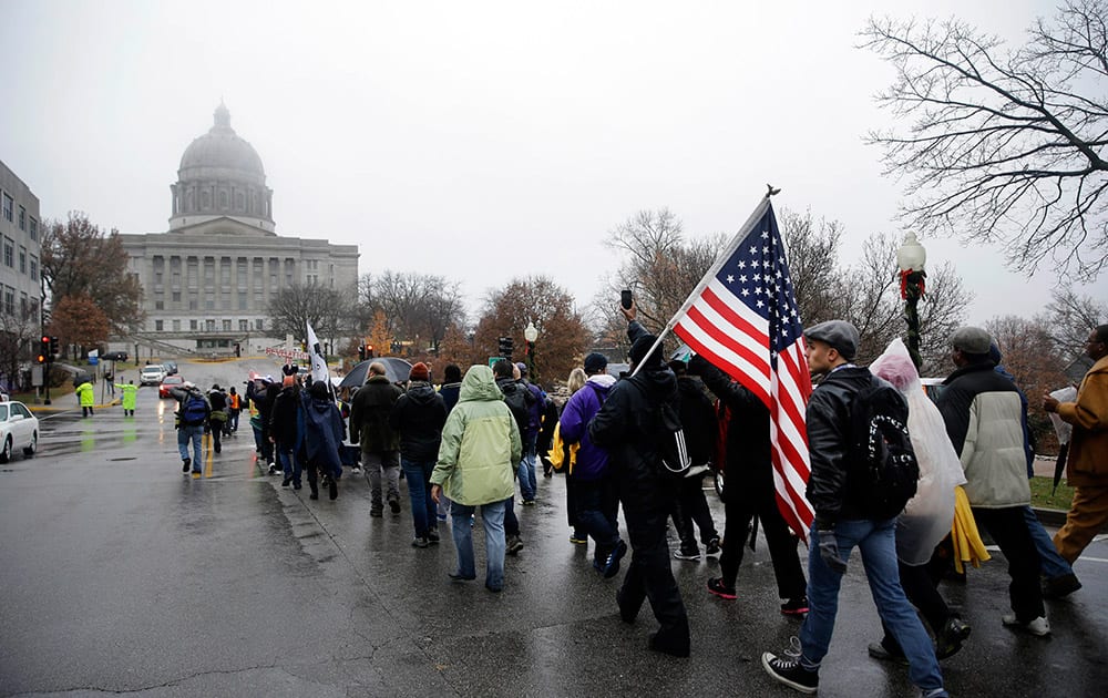
{"label": "tan-brown jacket on person cut off by right edge", "polygon": [[1059,402],[1058,417],[1074,425],[1066,479],[1075,487],[1108,486],[1108,357],[1081,380],[1076,402]]}

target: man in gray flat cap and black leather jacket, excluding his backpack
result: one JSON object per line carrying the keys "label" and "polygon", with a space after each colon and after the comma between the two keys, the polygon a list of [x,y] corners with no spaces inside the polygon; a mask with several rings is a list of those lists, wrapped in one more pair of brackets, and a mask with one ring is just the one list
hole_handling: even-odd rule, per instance
{"label": "man in gray flat cap and black leather jacket, excluding his backpack", "polygon": [[[850,553],[858,547],[881,619],[909,661],[909,678],[925,698],[946,696],[931,638],[904,596],[896,567],[896,517],[876,520],[864,496],[851,487],[850,413],[858,394],[884,381],[854,366],[858,330],[829,320],[804,330],[808,369],[823,376],[808,402],[811,474],[806,496],[815,511],[808,547],[808,616],[800,628],[796,659],[762,655],[762,667],[774,679],[801,692],[819,689],[820,664],[834,630],[839,588]],[[888,386],[888,383],[884,383]],[[893,392],[900,396],[899,392]]]}

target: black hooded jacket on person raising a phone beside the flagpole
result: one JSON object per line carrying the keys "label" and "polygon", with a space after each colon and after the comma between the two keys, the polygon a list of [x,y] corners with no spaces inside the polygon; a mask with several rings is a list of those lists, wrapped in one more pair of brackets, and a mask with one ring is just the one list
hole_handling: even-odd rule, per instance
{"label": "black hooded jacket on person raising a phone beside the flagpole", "polygon": [[[646,331],[632,322],[627,333],[634,342]],[[601,411],[588,422],[588,438],[608,450],[608,468],[619,500],[627,511],[669,511],[674,476],[661,464],[658,439],[660,406],[668,402],[680,412],[677,377],[660,362],[644,366],[632,378],[616,382]]]}

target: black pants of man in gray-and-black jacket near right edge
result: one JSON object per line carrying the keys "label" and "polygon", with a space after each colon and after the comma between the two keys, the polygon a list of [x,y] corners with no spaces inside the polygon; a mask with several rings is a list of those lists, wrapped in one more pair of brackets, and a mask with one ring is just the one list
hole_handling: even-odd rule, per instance
{"label": "black pants of man in gray-and-black jacket near right edge", "polygon": [[1008,597],[1020,623],[1045,616],[1043,587],[1039,585],[1039,556],[1027,530],[1022,506],[1005,509],[973,507],[977,525],[985,528],[1008,561]]}

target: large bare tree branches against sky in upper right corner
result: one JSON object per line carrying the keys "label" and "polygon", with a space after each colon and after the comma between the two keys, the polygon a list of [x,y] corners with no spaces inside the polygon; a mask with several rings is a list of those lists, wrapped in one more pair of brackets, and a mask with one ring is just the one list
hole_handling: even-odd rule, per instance
{"label": "large bare tree branches against sky in upper right corner", "polygon": [[905,219],[999,243],[1019,270],[1049,258],[1094,279],[1108,264],[1108,4],[1066,2],[1015,50],[956,20],[871,19],[861,35],[896,70],[878,101],[909,125],[869,142],[909,178]]}

